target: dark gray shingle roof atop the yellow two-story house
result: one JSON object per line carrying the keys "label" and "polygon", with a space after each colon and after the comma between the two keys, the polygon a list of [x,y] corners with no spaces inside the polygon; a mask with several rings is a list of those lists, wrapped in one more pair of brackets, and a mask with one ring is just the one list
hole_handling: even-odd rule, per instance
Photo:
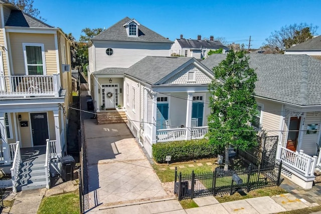
{"label": "dark gray shingle roof atop the yellow two-story house", "polygon": [[53,28],[50,25],[22,12],[11,11],[6,26],[30,27],[30,28]]}

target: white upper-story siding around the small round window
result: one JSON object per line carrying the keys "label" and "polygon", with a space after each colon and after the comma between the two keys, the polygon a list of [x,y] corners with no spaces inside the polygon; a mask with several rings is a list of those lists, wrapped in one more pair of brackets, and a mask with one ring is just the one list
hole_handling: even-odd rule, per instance
{"label": "white upper-story siding around the small round window", "polygon": [[[169,43],[94,42],[96,70],[128,68],[146,56],[170,56]],[[113,49],[108,56],[106,49]]]}

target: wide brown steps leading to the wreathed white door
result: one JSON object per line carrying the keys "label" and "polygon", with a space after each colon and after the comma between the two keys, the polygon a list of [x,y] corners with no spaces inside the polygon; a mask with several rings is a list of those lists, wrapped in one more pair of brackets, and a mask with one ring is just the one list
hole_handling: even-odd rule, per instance
{"label": "wide brown steps leading to the wreathed white door", "polygon": [[127,123],[125,111],[97,112],[97,124]]}

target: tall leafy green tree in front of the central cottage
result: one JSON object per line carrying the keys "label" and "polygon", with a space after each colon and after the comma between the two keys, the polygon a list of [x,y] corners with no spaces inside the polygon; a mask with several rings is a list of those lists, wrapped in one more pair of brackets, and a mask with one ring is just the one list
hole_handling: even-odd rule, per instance
{"label": "tall leafy green tree in front of the central cottage", "polygon": [[208,136],[210,143],[224,147],[225,170],[228,169],[230,145],[241,150],[257,145],[250,124],[257,113],[254,98],[257,77],[248,59],[245,51],[231,50],[226,59],[213,68],[215,80],[209,85]]}

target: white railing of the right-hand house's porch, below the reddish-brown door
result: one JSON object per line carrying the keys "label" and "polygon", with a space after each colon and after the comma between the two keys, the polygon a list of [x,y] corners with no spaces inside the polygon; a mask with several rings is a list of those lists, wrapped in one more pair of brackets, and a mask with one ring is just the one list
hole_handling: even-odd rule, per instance
{"label": "white railing of the right-hand house's porch, below the reddish-brown door", "polygon": [[311,157],[300,152],[293,152],[287,148],[281,146],[279,159],[283,161],[283,164],[292,166],[294,169],[304,173],[305,176],[313,175],[316,157]]}

